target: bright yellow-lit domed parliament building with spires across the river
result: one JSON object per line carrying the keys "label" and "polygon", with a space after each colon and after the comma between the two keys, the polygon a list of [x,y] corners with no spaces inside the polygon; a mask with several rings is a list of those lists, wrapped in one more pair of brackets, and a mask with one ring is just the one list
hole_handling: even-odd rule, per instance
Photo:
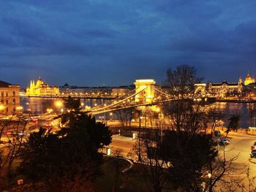
{"label": "bright yellow-lit domed parliament building with spires across the river", "polygon": [[27,95],[58,95],[59,88],[56,86],[49,86],[47,83],[43,82],[39,77],[37,83],[34,80],[30,82],[29,88],[26,88]]}

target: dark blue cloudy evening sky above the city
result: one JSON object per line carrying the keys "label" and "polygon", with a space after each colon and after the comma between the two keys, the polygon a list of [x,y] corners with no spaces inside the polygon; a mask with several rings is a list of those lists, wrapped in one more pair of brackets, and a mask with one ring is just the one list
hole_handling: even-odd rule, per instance
{"label": "dark blue cloudy evening sky above the city", "polygon": [[189,64],[205,81],[256,74],[256,1],[1,0],[0,79],[128,85]]}

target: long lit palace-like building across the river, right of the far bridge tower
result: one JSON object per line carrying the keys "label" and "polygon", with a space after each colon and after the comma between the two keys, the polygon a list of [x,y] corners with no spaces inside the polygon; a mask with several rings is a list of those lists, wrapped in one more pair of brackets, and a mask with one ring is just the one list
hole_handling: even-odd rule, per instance
{"label": "long lit palace-like building across the river, right of the far bridge tower", "polygon": [[221,82],[221,83],[208,83],[208,93],[211,96],[225,97],[225,96],[241,96],[243,91],[243,82],[241,77],[238,82]]}

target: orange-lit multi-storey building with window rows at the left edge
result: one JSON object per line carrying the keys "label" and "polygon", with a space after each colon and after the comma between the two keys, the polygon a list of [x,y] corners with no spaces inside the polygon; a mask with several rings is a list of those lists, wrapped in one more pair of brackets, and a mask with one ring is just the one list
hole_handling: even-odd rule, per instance
{"label": "orange-lit multi-storey building with window rows at the left edge", "polygon": [[0,114],[12,115],[22,110],[20,107],[20,86],[0,81]]}

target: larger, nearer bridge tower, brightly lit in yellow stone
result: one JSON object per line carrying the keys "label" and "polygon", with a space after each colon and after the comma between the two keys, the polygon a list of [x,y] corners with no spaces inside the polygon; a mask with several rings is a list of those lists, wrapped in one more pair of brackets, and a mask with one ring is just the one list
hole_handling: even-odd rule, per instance
{"label": "larger, nearer bridge tower, brightly lit in yellow stone", "polygon": [[135,90],[138,93],[135,96],[135,102],[151,103],[154,99],[154,80],[135,80]]}

